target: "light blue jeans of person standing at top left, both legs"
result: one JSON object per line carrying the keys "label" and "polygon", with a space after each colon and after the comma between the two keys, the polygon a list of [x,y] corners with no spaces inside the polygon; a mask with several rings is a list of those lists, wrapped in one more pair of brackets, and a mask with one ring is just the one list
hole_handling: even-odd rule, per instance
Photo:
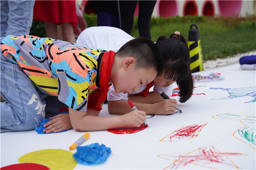
{"label": "light blue jeans of person standing at top left, both legs", "polygon": [[29,35],[35,0],[1,0],[1,37]]}

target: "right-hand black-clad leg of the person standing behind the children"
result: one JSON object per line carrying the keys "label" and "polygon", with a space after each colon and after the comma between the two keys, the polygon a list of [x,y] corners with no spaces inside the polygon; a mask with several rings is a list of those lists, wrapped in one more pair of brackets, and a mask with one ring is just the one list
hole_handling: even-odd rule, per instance
{"label": "right-hand black-clad leg of the person standing behind the children", "polygon": [[150,21],[156,0],[139,0],[138,29],[140,37],[151,39]]}

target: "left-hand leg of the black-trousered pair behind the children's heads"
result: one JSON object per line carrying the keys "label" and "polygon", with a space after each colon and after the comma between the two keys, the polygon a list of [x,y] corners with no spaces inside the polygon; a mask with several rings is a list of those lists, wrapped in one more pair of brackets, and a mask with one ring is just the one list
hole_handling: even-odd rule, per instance
{"label": "left-hand leg of the black-trousered pair behind the children's heads", "polygon": [[137,0],[119,0],[121,29],[131,34]]}

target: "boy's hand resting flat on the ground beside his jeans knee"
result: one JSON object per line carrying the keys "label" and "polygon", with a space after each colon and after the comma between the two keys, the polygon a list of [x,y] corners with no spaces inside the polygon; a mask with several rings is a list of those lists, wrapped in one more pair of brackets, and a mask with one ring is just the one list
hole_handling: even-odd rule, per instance
{"label": "boy's hand resting flat on the ground beside his jeans knee", "polygon": [[62,130],[67,130],[72,128],[70,123],[70,116],[67,113],[58,114],[56,116],[50,117],[51,121],[44,124],[44,127],[47,127],[43,130],[44,133],[57,133]]}

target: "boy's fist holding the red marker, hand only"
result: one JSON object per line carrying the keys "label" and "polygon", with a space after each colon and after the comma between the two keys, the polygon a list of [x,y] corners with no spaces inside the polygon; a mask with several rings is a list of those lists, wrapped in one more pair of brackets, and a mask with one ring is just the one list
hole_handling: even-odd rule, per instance
{"label": "boy's fist holding the red marker, hand only", "polygon": [[123,127],[140,127],[146,120],[146,112],[144,111],[131,111],[122,115],[124,125]]}

